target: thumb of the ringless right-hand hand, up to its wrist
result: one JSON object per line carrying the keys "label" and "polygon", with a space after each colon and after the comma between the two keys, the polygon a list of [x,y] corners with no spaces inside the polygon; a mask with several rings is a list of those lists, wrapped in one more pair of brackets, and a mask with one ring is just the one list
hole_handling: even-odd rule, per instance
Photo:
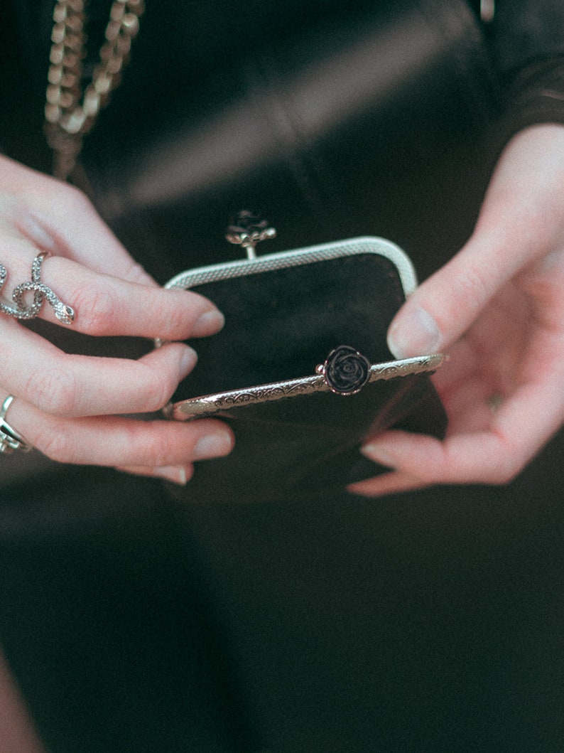
{"label": "thumb of the ringless right-hand hand, up to its wrist", "polygon": [[561,127],[530,129],[510,143],[472,238],[393,320],[388,344],[397,358],[450,346],[508,279],[562,242],[564,157],[559,151],[564,153]]}

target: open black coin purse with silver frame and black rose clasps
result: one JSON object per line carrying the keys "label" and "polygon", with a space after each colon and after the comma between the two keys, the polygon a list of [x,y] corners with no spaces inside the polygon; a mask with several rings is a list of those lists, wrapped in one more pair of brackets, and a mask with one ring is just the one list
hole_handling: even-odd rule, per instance
{"label": "open black coin purse with silver frame and black rose clasps", "polygon": [[[384,469],[359,447],[387,428],[444,436],[446,416],[429,379],[438,354],[396,361],[386,336],[416,287],[390,241],[364,237],[256,257],[271,228],[232,227],[247,259],[180,273],[165,287],[196,291],[223,312],[167,415],[214,416],[235,449],[196,464],[177,492],[193,501],[311,496]],[[157,345],[161,344],[157,341]]]}

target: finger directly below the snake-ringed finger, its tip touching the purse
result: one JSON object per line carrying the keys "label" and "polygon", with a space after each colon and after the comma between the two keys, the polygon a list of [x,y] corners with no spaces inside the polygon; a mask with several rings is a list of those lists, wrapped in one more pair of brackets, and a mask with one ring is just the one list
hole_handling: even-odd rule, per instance
{"label": "finger directly below the snake-ringed finger, its tip touching the purse", "polygon": [[197,360],[183,343],[168,343],[138,361],[71,355],[17,322],[5,322],[2,345],[6,391],[60,416],[159,410]]}

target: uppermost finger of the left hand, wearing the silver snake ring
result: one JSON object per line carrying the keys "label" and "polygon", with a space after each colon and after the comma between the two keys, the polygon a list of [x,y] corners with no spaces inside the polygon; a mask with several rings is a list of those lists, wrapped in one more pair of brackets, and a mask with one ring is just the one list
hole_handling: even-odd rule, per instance
{"label": "uppermost finger of the left hand, wearing the silver snake ring", "polygon": [[[9,275],[4,297],[9,287],[31,280],[35,255],[37,249],[27,240],[0,236],[0,261]],[[41,282],[74,309],[73,328],[85,334],[185,340],[214,334],[223,327],[223,315],[199,294],[127,282],[61,257],[44,259]],[[28,295],[32,300],[31,291]],[[47,300],[41,317],[57,321]]]}

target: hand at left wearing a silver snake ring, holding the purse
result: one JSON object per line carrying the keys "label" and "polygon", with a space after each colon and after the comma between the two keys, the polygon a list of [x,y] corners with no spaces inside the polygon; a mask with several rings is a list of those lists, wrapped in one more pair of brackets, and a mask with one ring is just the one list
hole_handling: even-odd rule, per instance
{"label": "hand at left wearing a silver snake ring, holding the purse", "polygon": [[[74,187],[0,157],[0,262],[8,270],[3,297],[31,279],[40,252],[51,254],[41,282],[74,309],[77,331],[174,341],[223,326],[204,297],[159,288]],[[47,302],[40,316],[61,325]],[[138,361],[69,355],[4,312],[0,337],[0,401],[16,398],[6,420],[51,459],[185,483],[194,460],[232,448],[231,432],[217,421],[149,424],[120,416],[168,402],[196,364],[196,353],[183,343],[168,343]]]}

